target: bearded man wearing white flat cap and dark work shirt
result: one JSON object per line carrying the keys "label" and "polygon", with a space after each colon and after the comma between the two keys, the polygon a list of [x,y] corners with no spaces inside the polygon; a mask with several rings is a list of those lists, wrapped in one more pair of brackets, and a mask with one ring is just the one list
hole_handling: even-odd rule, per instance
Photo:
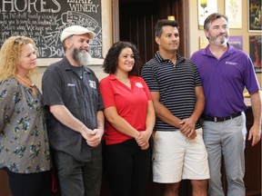
{"label": "bearded man wearing white flat cap and dark work shirt", "polygon": [[89,64],[95,34],[74,25],[64,29],[65,57],[47,67],[42,81],[47,131],[61,194],[100,195],[104,104]]}

